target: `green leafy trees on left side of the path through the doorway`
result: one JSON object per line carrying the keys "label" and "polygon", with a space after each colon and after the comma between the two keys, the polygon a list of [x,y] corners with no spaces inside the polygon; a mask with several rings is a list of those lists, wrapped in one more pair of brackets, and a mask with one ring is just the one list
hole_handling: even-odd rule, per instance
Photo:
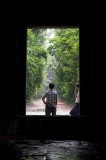
{"label": "green leafy trees on left side of the path through the doorway", "polygon": [[42,93],[43,69],[46,64],[47,50],[43,48],[44,35],[40,29],[28,29],[26,99],[38,98]]}

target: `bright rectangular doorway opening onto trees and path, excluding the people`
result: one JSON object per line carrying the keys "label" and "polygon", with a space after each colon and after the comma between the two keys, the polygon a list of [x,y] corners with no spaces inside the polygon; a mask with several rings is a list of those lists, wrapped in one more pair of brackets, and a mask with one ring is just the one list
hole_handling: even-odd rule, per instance
{"label": "bright rectangular doorway opening onto trees and path, excluding the people", "polygon": [[80,81],[79,27],[28,27],[26,115],[45,115],[42,96],[55,83],[56,115],[70,116]]}

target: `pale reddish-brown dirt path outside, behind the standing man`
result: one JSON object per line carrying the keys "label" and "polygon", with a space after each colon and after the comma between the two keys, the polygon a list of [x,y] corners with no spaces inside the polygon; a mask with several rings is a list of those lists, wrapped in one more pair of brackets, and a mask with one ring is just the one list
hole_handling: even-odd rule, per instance
{"label": "pale reddish-brown dirt path outside, behind the standing man", "polygon": [[[71,106],[59,101],[57,105],[57,115],[69,115]],[[37,100],[26,104],[26,115],[45,115],[45,105],[42,100]]]}

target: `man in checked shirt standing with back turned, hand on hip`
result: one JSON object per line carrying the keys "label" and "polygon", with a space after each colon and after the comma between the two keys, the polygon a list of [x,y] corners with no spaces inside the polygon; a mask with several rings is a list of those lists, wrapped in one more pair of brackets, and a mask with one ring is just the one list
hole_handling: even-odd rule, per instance
{"label": "man in checked shirt standing with back turned, hand on hip", "polygon": [[42,101],[45,104],[45,115],[56,115],[57,92],[54,90],[54,83],[49,84],[49,91],[44,94]]}

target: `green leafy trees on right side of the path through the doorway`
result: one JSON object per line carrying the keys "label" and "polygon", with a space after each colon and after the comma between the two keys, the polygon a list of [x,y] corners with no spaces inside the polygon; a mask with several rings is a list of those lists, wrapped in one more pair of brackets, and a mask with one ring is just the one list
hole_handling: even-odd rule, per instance
{"label": "green leafy trees on right side of the path through the doorway", "polygon": [[57,61],[55,83],[59,97],[73,102],[75,83],[79,80],[79,30],[58,29],[52,43]]}

